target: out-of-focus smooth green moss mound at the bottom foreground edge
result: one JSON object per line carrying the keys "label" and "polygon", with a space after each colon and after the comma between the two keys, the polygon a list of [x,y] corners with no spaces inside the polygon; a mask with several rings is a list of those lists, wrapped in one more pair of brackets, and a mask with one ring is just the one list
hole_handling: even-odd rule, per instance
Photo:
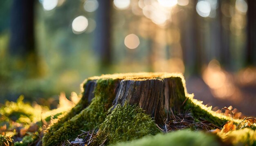
{"label": "out-of-focus smooth green moss mound at the bottom foreground edge", "polygon": [[168,134],[160,133],[112,146],[220,146],[220,143],[214,135],[202,131],[182,130]]}

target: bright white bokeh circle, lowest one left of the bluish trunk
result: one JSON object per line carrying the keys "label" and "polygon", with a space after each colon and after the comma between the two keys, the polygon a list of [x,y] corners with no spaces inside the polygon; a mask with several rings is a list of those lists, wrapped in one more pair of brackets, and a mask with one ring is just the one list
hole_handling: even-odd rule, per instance
{"label": "bright white bokeh circle, lowest one left of the bluish trunk", "polygon": [[75,34],[83,33],[87,27],[88,19],[83,15],[76,17],[72,22],[72,30]]}

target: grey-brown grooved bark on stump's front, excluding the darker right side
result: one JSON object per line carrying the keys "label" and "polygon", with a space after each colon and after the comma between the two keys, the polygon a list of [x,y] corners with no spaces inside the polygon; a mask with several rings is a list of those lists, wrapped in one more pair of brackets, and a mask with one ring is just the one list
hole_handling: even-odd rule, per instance
{"label": "grey-brown grooved bark on stump's front, excluding the darker right side", "polygon": [[117,96],[113,102],[138,105],[145,113],[155,117],[157,123],[162,122],[164,116],[164,83],[159,79],[122,80]]}

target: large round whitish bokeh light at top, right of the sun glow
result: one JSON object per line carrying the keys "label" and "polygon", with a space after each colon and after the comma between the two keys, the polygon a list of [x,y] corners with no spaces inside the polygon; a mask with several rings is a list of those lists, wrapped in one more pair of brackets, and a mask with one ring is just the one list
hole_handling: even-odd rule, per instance
{"label": "large round whitish bokeh light at top, right of the sun glow", "polygon": [[208,17],[211,12],[211,4],[207,1],[199,1],[196,4],[196,12],[202,17]]}

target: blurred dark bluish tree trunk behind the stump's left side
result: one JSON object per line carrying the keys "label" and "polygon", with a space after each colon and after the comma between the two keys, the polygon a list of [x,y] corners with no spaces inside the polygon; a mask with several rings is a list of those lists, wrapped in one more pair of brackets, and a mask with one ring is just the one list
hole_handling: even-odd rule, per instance
{"label": "blurred dark bluish tree trunk behind the stump's left side", "polygon": [[111,63],[111,0],[98,0],[99,8],[96,14],[97,26],[95,29],[95,51],[98,55],[101,72]]}

